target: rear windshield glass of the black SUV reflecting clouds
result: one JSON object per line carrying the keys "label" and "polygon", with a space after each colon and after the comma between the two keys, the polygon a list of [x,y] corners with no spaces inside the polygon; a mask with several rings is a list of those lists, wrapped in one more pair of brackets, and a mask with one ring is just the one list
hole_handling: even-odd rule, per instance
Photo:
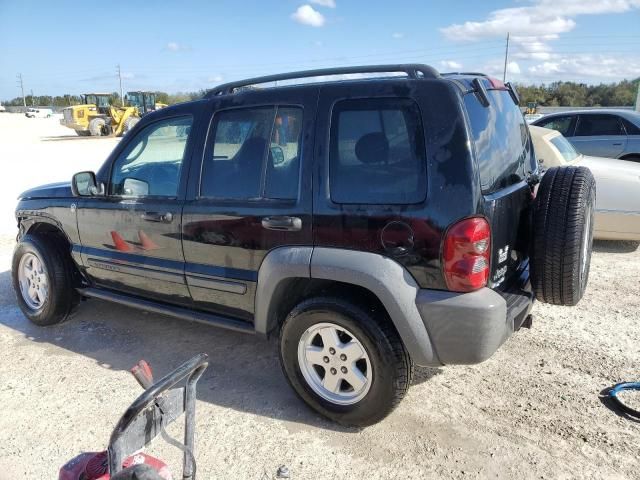
{"label": "rear windshield glass of the black SUV reflecting clouds", "polygon": [[482,192],[493,193],[522,181],[535,171],[529,129],[520,108],[506,90],[488,90],[484,107],[475,94],[464,97],[475,144]]}

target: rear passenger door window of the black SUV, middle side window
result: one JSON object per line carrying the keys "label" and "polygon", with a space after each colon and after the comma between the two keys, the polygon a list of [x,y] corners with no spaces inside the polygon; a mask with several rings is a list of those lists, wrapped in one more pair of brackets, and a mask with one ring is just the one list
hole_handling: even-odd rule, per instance
{"label": "rear passenger door window of the black SUV, middle side window", "polygon": [[302,109],[255,107],[218,112],[213,148],[202,164],[200,196],[229,200],[298,197]]}

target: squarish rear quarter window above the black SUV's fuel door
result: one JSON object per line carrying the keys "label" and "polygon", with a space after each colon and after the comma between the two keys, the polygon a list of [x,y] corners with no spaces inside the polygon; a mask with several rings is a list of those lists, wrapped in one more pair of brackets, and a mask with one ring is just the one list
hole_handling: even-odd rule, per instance
{"label": "squarish rear quarter window above the black SUV's fuel door", "polygon": [[343,100],[331,117],[329,184],[335,203],[411,204],[426,197],[426,153],[410,99]]}

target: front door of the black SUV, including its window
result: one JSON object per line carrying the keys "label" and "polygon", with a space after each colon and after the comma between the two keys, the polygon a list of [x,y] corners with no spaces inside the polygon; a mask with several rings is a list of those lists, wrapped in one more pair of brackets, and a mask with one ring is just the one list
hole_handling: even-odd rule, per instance
{"label": "front door of the black SUV, including its window", "polygon": [[125,137],[106,195],[79,202],[81,259],[98,286],[190,303],[180,221],[192,121],[159,120]]}

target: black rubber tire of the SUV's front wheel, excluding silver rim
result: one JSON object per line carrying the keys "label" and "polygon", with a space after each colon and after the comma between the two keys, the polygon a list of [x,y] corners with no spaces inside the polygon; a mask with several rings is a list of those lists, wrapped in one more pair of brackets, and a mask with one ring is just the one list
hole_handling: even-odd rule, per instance
{"label": "black rubber tire of the SUV's front wheel, excluding silver rim", "polygon": [[[19,267],[26,254],[35,255],[44,265],[48,294],[39,308],[25,301],[20,287]],[[25,235],[13,252],[11,276],[13,288],[22,313],[36,325],[55,325],[66,320],[80,301],[74,288],[71,256],[55,238],[44,235]]]}

